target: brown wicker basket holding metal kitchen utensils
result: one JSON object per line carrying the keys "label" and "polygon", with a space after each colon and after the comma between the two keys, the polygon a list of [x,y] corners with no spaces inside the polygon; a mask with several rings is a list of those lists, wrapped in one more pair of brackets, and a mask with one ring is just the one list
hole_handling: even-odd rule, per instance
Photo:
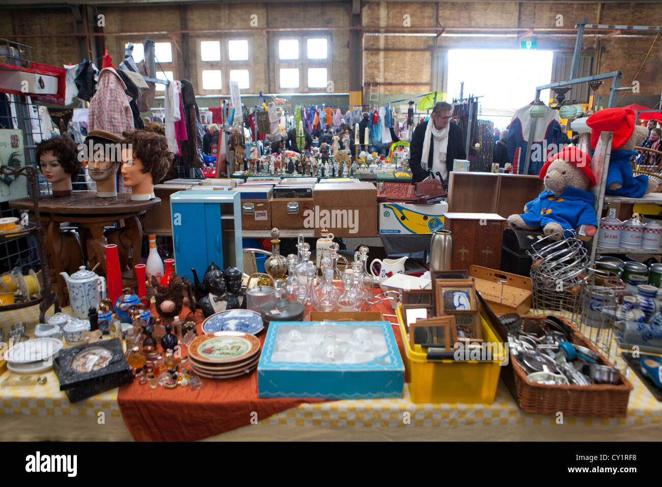
{"label": "brown wicker basket holding metal kitchen utensils", "polygon": [[[542,316],[528,315],[524,318],[543,319]],[[587,347],[600,354],[591,342],[577,331],[577,328],[565,318],[563,320],[575,332],[571,339],[574,345]],[[542,325],[544,327],[544,325]],[[602,354],[602,364],[613,366]],[[625,417],[632,384],[621,373],[621,384],[599,384],[594,386],[562,386],[531,382],[517,359],[510,354],[510,361],[502,371],[502,378],[510,394],[522,411],[526,413],[556,414],[591,417]]]}

